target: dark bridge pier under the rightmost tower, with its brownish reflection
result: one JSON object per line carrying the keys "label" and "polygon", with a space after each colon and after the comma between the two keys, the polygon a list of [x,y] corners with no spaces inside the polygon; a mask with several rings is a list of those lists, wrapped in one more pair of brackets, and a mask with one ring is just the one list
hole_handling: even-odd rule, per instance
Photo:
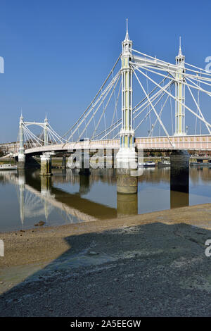
{"label": "dark bridge pier under the rightmost tower, with its brownish reflection", "polygon": [[187,151],[175,150],[170,155],[170,189],[171,208],[189,204],[189,154]]}

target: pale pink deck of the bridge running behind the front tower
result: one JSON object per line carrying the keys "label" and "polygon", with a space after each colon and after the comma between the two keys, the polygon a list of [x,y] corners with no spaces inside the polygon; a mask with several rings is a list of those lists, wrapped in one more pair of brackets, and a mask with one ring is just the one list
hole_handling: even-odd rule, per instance
{"label": "pale pink deck of the bridge running behind the front tower", "polygon": [[[135,139],[135,146],[138,149],[153,149],[166,151],[173,149],[189,149],[211,151],[211,135],[186,135],[181,137],[140,137]],[[170,143],[172,142],[172,144]],[[173,146],[172,146],[173,145]],[[48,151],[67,152],[77,149],[120,149],[120,139],[103,139],[83,142],[70,142],[68,144],[49,144],[25,149],[27,155],[37,155]],[[15,157],[18,153],[14,154]]]}

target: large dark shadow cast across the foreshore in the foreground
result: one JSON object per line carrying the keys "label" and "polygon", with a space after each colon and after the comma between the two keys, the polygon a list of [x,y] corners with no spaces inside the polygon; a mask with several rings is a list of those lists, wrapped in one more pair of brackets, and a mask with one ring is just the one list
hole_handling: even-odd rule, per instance
{"label": "large dark shadow cast across the foreshore in the foreground", "polygon": [[210,316],[210,237],[163,223],[65,237],[68,251],[0,296],[0,316]]}

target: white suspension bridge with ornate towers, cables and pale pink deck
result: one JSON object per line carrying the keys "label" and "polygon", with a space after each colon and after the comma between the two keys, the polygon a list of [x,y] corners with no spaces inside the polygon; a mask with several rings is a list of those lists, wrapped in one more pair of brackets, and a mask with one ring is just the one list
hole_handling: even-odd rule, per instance
{"label": "white suspension bridge with ornate towers, cables and pale pink deck", "polygon": [[[70,129],[59,135],[49,124],[20,116],[19,150],[25,156],[77,149],[115,149],[119,161],[137,160],[137,149],[158,151],[211,150],[211,73],[186,63],[181,51],[169,63],[137,51],[127,32],[122,52],[94,99]],[[190,124],[189,124],[190,123]],[[29,129],[41,127],[40,135]],[[136,136],[136,137],[135,137]]]}

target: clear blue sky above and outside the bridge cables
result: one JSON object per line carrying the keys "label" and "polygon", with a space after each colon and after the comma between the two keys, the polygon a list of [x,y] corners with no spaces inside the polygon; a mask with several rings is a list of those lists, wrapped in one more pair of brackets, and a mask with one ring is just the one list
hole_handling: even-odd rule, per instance
{"label": "clear blue sky above and outside the bridge cables", "polygon": [[181,35],[186,61],[205,68],[210,13],[209,0],[1,0],[0,142],[17,138],[20,108],[68,130],[120,54],[125,18],[136,49],[174,63]]}

